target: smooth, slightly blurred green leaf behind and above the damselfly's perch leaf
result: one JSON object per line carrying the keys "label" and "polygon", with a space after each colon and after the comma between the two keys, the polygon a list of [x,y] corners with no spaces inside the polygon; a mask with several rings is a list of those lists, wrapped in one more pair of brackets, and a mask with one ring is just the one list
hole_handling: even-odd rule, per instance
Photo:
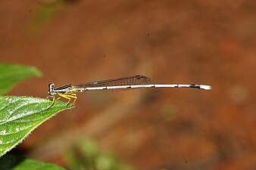
{"label": "smooth, slightly blurred green leaf behind and above the damselfly's perch leaf", "polygon": [[0,95],[8,93],[18,82],[31,76],[42,76],[42,73],[34,66],[0,64]]}

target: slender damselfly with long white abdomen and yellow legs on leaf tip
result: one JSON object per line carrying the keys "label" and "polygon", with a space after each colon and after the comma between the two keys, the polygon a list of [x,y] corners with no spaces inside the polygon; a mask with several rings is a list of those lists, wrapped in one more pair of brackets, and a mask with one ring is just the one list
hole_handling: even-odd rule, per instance
{"label": "slender damselfly with long white abdomen and yellow legs on leaf tip", "polygon": [[61,97],[67,99],[67,104],[70,104],[70,100],[73,99],[74,105],[77,99],[76,93],[83,91],[99,91],[99,90],[124,90],[124,89],[133,89],[133,88],[198,88],[204,90],[211,90],[210,85],[155,85],[150,84],[150,79],[147,76],[130,76],[124,77],[120,79],[107,79],[98,82],[86,82],[80,85],[62,85],[58,88],[55,88],[54,83],[50,83],[48,89],[48,97],[52,100],[52,104],[47,107],[52,107],[55,104],[55,96],[58,95],[57,98]]}

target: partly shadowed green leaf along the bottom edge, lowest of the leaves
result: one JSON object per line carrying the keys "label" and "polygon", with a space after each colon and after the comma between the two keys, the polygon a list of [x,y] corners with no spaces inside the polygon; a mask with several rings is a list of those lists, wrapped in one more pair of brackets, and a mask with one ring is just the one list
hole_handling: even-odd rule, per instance
{"label": "partly shadowed green leaf along the bottom edge, lowest of the leaves", "polygon": [[19,156],[5,155],[0,158],[1,170],[64,170],[58,165],[39,162]]}

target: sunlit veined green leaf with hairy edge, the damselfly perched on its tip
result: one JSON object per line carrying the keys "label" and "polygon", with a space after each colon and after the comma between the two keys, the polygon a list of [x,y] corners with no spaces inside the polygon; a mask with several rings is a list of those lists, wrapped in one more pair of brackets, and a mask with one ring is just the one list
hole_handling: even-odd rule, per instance
{"label": "sunlit veined green leaf with hairy edge, the damselfly perched on its tip", "polygon": [[0,156],[7,153],[37,126],[56,113],[71,108],[59,100],[35,97],[0,96]]}

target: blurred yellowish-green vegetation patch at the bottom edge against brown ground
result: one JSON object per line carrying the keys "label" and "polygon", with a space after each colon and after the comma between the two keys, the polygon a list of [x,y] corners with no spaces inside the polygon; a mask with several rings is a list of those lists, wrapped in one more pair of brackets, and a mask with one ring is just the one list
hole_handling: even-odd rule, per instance
{"label": "blurred yellowish-green vegetation patch at the bottom edge against brown ground", "polygon": [[98,149],[92,139],[80,141],[63,153],[70,170],[134,170],[131,165],[121,162],[114,153]]}

